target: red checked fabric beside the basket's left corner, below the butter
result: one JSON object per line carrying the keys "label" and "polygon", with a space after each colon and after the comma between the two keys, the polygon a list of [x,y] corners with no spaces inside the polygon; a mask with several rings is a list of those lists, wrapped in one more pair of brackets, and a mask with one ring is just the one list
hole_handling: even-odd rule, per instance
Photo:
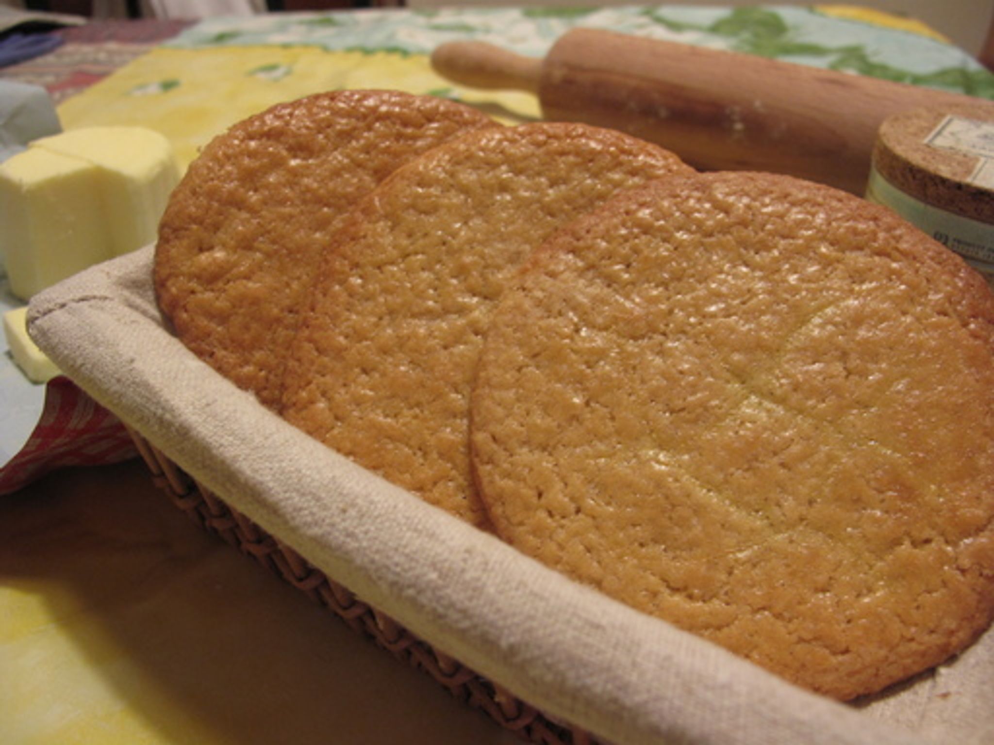
{"label": "red checked fabric beside the basket's left corner, below the butter", "polygon": [[45,389],[45,405],[21,451],[0,469],[0,495],[66,466],[101,466],[137,454],[127,430],[68,377]]}

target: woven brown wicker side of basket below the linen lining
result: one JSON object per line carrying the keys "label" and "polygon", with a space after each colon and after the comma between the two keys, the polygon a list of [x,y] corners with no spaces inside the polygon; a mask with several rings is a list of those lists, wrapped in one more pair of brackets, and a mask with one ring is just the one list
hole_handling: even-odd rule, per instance
{"label": "woven brown wicker side of basket below the linen lining", "polygon": [[554,722],[499,685],[469,670],[311,566],[296,551],[226,505],[131,427],[125,428],[151,472],[152,481],[177,508],[210,533],[254,558],[353,631],[396,659],[424,671],[458,701],[486,713],[502,727],[539,745],[596,745],[582,730]]}

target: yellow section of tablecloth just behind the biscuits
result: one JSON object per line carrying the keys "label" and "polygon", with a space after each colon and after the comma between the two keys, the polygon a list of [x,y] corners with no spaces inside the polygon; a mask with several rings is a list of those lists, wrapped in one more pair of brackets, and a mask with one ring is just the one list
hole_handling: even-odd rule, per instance
{"label": "yellow section of tablecloth just behind the biscuits", "polygon": [[[281,79],[283,70],[294,74]],[[186,84],[170,89],[169,81],[177,74]],[[315,47],[162,48],[70,98],[59,115],[67,129],[100,124],[152,127],[169,137],[181,162],[189,164],[214,134],[280,101],[337,88],[422,93],[448,90],[449,85],[423,55]],[[539,116],[538,102],[528,93],[467,89],[460,97],[488,106],[505,123]]]}

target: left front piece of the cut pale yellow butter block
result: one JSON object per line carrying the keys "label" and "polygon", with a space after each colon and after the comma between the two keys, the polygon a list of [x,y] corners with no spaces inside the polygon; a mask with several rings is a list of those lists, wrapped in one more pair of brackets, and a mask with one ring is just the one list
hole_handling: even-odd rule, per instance
{"label": "left front piece of the cut pale yellow butter block", "polygon": [[110,258],[93,167],[31,148],[0,164],[0,255],[23,300]]}

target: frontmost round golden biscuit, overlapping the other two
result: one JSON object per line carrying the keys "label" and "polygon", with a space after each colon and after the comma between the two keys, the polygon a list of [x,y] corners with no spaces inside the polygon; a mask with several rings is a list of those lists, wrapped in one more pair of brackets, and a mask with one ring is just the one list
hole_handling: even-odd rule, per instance
{"label": "frontmost round golden biscuit, overlapping the other two", "polygon": [[497,533],[849,699],[994,615],[994,297],[882,208],[672,178],[559,233],[471,402]]}

